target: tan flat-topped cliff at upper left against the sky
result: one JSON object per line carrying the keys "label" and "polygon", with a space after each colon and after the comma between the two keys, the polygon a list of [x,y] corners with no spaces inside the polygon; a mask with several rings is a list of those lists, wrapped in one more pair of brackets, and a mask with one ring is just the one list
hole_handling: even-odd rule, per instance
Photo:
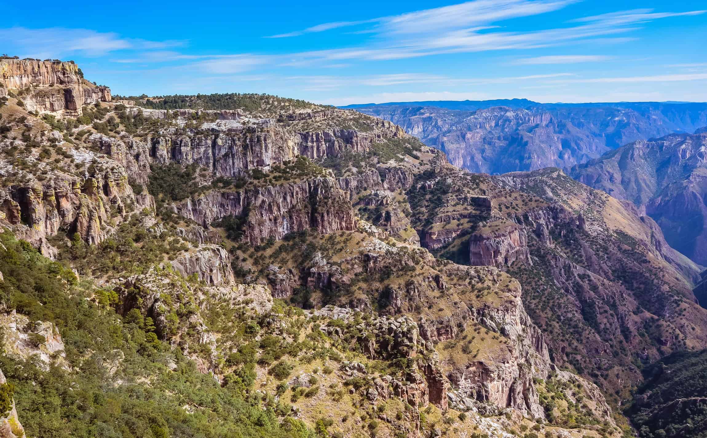
{"label": "tan flat-topped cliff at upper left against the sky", "polygon": [[110,88],[95,86],[83,79],[71,62],[0,59],[0,81],[7,90],[24,90],[30,111],[81,114],[81,106],[110,101]]}

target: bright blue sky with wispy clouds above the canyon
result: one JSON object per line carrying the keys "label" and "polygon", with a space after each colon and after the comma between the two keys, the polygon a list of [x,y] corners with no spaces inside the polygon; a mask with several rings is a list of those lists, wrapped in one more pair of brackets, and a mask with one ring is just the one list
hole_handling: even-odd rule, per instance
{"label": "bright blue sky with wispy clouds above the canyon", "polygon": [[704,1],[109,3],[8,3],[0,51],[121,95],[707,101]]}

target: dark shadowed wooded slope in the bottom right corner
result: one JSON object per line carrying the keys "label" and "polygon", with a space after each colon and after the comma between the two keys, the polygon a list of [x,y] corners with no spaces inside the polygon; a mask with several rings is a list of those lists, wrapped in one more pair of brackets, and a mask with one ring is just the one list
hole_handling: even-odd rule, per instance
{"label": "dark shadowed wooded slope in the bottom right corner", "polygon": [[626,410],[641,437],[704,437],[707,351],[675,353],[646,368],[645,384]]}

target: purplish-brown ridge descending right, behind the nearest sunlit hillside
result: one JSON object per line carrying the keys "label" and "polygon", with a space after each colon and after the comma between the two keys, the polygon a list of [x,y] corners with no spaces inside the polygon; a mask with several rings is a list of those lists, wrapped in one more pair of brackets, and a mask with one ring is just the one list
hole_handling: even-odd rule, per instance
{"label": "purplish-brown ridge descending right, behind the nearest sunlit hillside", "polygon": [[453,167],[421,174],[408,199],[423,245],[518,278],[554,362],[616,391],[614,401],[641,381],[636,364],[705,342],[707,313],[691,292],[699,268],[629,202],[557,169],[488,177]]}

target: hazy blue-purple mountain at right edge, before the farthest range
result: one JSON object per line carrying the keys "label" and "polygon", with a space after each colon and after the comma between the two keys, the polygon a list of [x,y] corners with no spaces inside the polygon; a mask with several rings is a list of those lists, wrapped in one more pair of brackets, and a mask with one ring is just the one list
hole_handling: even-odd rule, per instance
{"label": "hazy blue-purple mountain at right edge, before the farthest range", "polygon": [[571,175],[618,199],[633,201],[655,220],[667,242],[707,264],[707,132],[635,141],[572,168]]}

